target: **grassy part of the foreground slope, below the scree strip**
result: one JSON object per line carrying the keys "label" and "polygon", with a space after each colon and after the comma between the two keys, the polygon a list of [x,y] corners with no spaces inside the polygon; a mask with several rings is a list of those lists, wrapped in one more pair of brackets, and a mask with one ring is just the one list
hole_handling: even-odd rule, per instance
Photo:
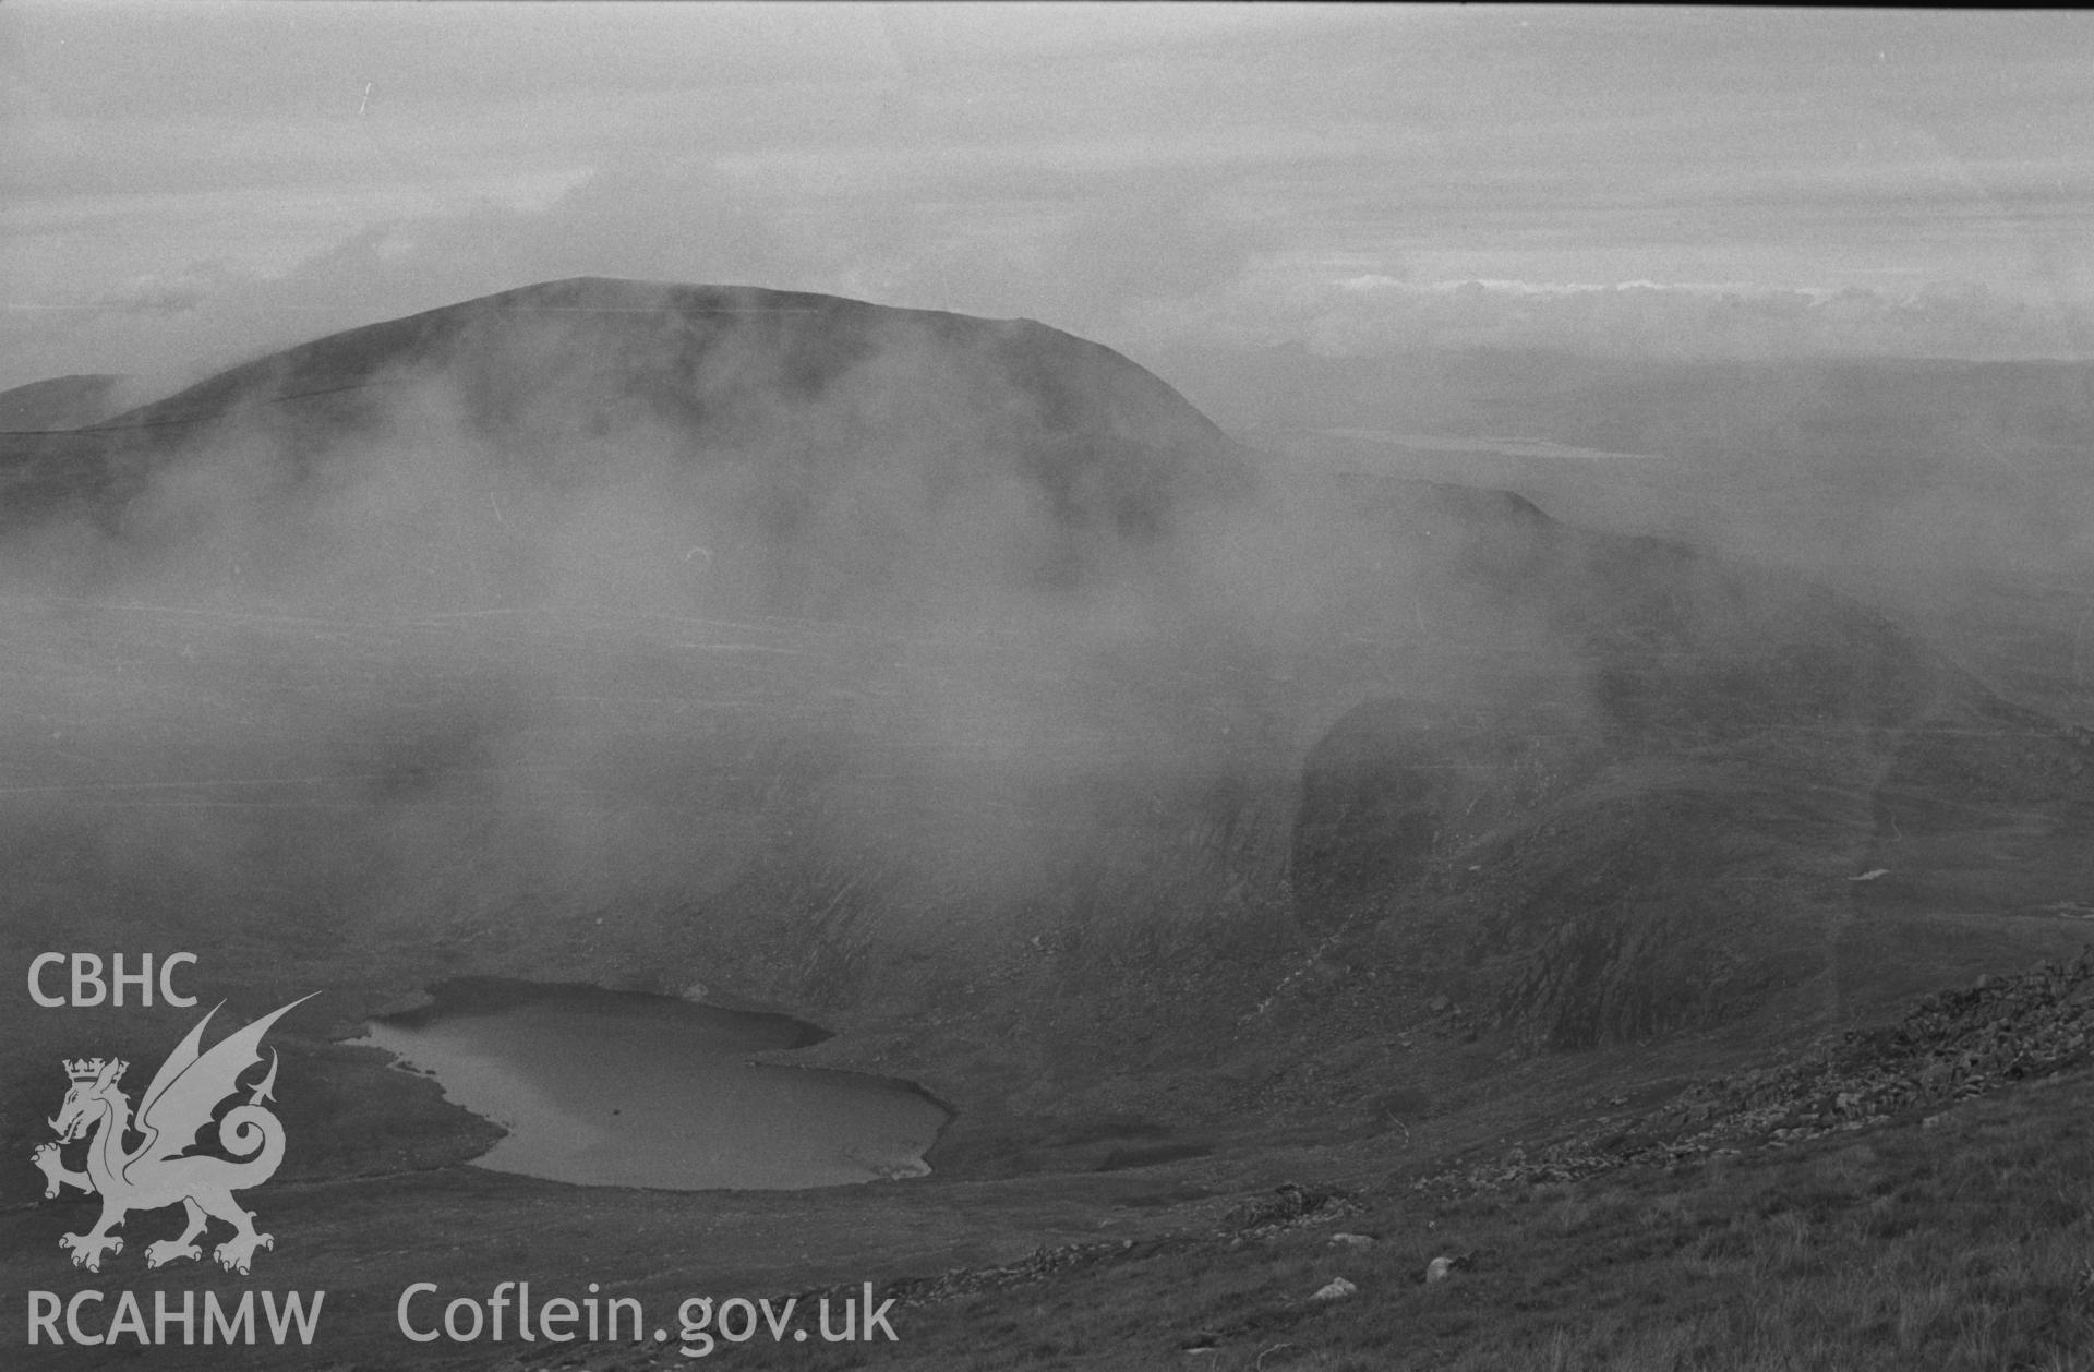
{"label": "grassy part of the foreground slope, below the scree strip", "polygon": [[[1340,1221],[1382,1236],[1363,1253],[1332,1248],[1332,1225],[1238,1251],[1196,1244],[909,1311],[892,1357],[739,1362],[2084,1368],[2090,1100],[2079,1070],[1958,1106],[1933,1129],[1903,1121],[1439,1207],[1369,1200]],[[1445,1282],[1420,1282],[1449,1251],[1474,1257]],[[1359,1294],[1311,1303],[1338,1276]]]}

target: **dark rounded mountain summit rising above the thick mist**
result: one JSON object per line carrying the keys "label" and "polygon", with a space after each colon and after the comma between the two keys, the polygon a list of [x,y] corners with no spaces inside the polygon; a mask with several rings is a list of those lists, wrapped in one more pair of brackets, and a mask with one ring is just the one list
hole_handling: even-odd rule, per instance
{"label": "dark rounded mountain summit rising above the thick mist", "polygon": [[[450,566],[423,557],[431,578],[471,559],[484,587],[528,599],[534,553],[557,536],[544,496],[591,490],[674,509],[645,534],[674,543],[664,561],[697,561],[714,605],[796,614],[965,580],[974,566],[938,566],[955,543],[997,545],[1022,580],[1081,578],[1101,547],[1244,482],[1162,381],[1030,320],[605,279],[316,339],[117,415],[94,440],[17,444],[8,509],[182,540],[222,511],[168,509],[168,482],[216,471],[203,501],[241,503],[247,532],[268,530],[241,557],[268,580],[262,563],[310,563],[312,538],[354,538],[316,511],[339,513],[346,482],[398,459],[421,482],[415,551],[454,545],[459,522],[475,532],[444,549]],[[438,471],[410,457],[431,442],[463,452]],[[216,467],[182,475],[197,452]],[[480,530],[490,513],[500,536]]]}

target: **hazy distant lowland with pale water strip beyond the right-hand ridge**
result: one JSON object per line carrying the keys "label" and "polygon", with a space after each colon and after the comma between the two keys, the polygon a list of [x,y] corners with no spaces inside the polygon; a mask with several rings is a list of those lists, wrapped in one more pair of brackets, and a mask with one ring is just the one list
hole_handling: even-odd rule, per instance
{"label": "hazy distant lowland with pale water strip beyond the right-hand ridge", "polygon": [[1460,473],[1575,524],[1799,568],[2017,698],[2094,718],[2086,362],[1512,348],[1177,362],[1173,379],[1256,446]]}

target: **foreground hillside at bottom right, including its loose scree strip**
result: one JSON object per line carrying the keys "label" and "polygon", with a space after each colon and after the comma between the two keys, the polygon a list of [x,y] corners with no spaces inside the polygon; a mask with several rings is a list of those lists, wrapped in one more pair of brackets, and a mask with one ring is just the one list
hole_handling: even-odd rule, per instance
{"label": "foreground hillside at bottom right, including its loose scree strip", "polygon": [[[1196,1234],[949,1274],[942,1299],[896,1318],[907,1338],[886,1355],[733,1353],[955,1370],[2084,1368],[2090,972],[2094,951],[1987,976],[1883,1031],[1617,1114],[1583,1148],[1537,1139],[1426,1177],[1284,1190]],[[1617,1152],[1591,1152],[1594,1135]],[[1443,1257],[1447,1278],[1424,1280]],[[1315,1299],[1340,1278],[1355,1290]]]}

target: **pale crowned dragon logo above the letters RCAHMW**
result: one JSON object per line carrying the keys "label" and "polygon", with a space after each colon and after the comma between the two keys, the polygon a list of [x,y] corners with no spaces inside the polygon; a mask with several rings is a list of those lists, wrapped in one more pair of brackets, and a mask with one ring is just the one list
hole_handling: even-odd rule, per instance
{"label": "pale crowned dragon logo above the letters RCAHMW", "polygon": [[[255,1248],[276,1246],[272,1236],[255,1232],[253,1211],[241,1209],[232,1198],[235,1190],[268,1181],[276,1175],[276,1165],[283,1163],[283,1121],[262,1108],[264,1100],[274,1100],[274,1049],[270,1049],[268,1077],[253,1087],[247,1104],[232,1106],[218,1121],[220,1146],[239,1160],[191,1154],[188,1150],[197,1142],[197,1131],[211,1123],[218,1106],[239,1093],[241,1072],[262,1062],[260,1043],[270,1024],[310,999],[312,995],[299,997],[247,1028],[226,1035],[209,1052],[201,1052],[203,1026],[211,1022],[224,1001],[214,1005],[159,1064],[153,1085],[138,1100],[136,1123],[132,1123],[130,1102],[117,1091],[128,1062],[86,1058],[65,1064],[73,1089],[65,1093],[59,1116],[48,1121],[59,1133],[59,1142],[38,1146],[29,1158],[46,1177],[46,1198],[57,1196],[61,1186],[98,1192],[103,1198],[103,1217],[94,1230],[67,1234],[59,1240],[61,1248],[73,1251],[75,1267],[101,1271],[103,1253],[124,1251],[124,1240],[109,1230],[121,1225],[130,1211],[157,1211],[176,1200],[188,1213],[188,1227],[178,1238],[147,1244],[147,1267],[182,1257],[203,1257],[195,1238],[211,1219],[224,1219],[235,1230],[232,1238],[218,1244],[211,1255],[226,1271],[245,1276]],[[101,1127],[98,1133],[96,1127]],[[88,1142],[88,1169],[71,1171],[59,1150],[90,1133],[94,1137]],[[142,1133],[144,1142],[126,1150],[126,1133]]]}

